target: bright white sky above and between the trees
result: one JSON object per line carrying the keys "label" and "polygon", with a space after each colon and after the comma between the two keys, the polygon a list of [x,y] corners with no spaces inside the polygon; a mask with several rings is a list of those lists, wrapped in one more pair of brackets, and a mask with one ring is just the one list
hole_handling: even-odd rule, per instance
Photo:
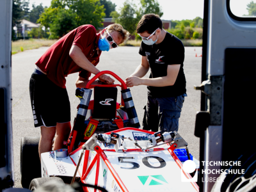
{"label": "bright white sky above and between the trees", "polygon": [[[118,11],[127,0],[111,0],[116,4]],[[131,1],[131,0],[130,0]],[[140,4],[140,0],[132,0],[134,4]],[[161,19],[164,20],[182,20],[195,19],[196,17],[204,17],[204,0],[157,0],[163,11]],[[225,1],[225,0],[214,0]],[[238,17],[248,14],[246,5],[252,0],[230,0],[230,8],[234,15]],[[253,0],[254,1],[254,0]],[[36,5],[43,3],[43,6],[50,6],[51,0],[30,0],[30,4]],[[256,1],[254,1],[256,3]]]}

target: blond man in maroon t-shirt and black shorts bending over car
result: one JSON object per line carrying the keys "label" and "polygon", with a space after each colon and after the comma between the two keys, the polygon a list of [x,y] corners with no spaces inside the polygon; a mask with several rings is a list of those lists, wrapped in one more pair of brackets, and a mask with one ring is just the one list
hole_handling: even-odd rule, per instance
{"label": "blond man in maroon t-shirt and black shorts bending over car", "polygon": [[[96,33],[92,25],[83,25],[63,36],[51,45],[35,63],[29,92],[35,127],[41,127],[39,154],[50,151],[52,140],[54,150],[63,147],[68,139],[70,125],[70,102],[66,90],[68,74],[79,72],[76,86],[83,88],[92,74],[100,71],[95,67],[99,63],[102,51],[118,47],[129,38],[120,24],[111,24]],[[99,80],[113,84],[111,77],[102,75]]]}

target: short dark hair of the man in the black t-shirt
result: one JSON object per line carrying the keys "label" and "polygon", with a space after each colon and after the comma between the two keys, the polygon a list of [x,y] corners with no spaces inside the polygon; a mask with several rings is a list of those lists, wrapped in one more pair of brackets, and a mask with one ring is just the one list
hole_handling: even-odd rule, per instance
{"label": "short dark hair of the man in the black t-shirt", "polygon": [[144,33],[147,31],[149,34],[156,31],[157,28],[163,29],[163,22],[159,15],[149,13],[141,17],[140,22],[137,25],[136,32]]}

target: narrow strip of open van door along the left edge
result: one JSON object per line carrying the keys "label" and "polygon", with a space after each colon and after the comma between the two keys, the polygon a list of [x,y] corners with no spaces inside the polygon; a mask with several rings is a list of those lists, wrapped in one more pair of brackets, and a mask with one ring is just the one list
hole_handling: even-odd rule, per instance
{"label": "narrow strip of open van door along the left edge", "polygon": [[0,191],[13,186],[12,150],[12,1],[0,6]]}

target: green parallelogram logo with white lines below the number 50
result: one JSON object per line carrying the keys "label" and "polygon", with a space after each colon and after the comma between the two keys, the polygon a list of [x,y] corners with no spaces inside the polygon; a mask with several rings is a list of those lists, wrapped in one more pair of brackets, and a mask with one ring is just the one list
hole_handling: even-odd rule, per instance
{"label": "green parallelogram logo with white lines below the number 50", "polygon": [[143,186],[157,186],[168,184],[168,182],[164,179],[163,175],[148,175],[148,176],[138,176],[140,182]]}

